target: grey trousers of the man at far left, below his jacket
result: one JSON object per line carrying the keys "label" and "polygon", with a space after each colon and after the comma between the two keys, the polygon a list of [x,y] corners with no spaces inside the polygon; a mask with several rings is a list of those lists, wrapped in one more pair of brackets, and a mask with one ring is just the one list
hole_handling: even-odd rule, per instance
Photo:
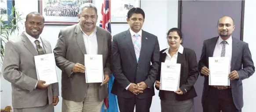
{"label": "grey trousers of the man at far left, below his jacket", "polygon": [[33,108],[23,108],[17,109],[13,108],[13,112],[54,112],[54,106],[51,105],[44,105],[41,107],[33,107]]}

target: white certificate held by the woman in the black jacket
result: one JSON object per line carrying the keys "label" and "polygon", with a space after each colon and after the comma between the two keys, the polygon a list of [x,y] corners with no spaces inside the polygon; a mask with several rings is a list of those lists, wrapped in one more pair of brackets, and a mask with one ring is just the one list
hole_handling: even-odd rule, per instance
{"label": "white certificate held by the woman in the black jacket", "polygon": [[179,63],[161,63],[160,90],[179,90],[180,66]]}

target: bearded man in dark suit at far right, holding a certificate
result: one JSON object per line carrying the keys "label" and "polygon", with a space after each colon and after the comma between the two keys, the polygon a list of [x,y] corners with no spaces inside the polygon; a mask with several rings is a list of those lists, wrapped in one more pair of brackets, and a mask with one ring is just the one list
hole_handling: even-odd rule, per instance
{"label": "bearded man in dark suit at far right, holding a certificate", "polygon": [[[242,80],[255,72],[248,43],[231,36],[234,31],[232,18],[224,16],[219,19],[217,29],[219,36],[204,41],[199,71],[205,77],[202,95],[204,112],[241,112],[243,107]],[[209,86],[208,57],[230,58],[230,86]]]}

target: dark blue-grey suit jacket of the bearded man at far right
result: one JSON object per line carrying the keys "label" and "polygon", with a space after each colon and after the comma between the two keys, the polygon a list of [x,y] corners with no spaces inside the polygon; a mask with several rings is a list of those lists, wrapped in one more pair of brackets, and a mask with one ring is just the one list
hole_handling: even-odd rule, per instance
{"label": "dark blue-grey suit jacket of the bearded man at far right", "polygon": [[[201,58],[198,63],[198,69],[201,73],[202,67],[208,68],[208,57],[213,56],[215,45],[219,37],[210,38],[204,41],[202,48]],[[238,72],[239,79],[230,81],[232,97],[234,105],[237,109],[243,107],[243,84],[242,80],[249,78],[255,72],[255,67],[252,61],[252,54],[250,52],[248,43],[232,38],[232,59],[231,59],[231,71],[236,70]],[[201,74],[205,77],[204,89],[202,95],[202,104],[208,94],[208,76]]]}

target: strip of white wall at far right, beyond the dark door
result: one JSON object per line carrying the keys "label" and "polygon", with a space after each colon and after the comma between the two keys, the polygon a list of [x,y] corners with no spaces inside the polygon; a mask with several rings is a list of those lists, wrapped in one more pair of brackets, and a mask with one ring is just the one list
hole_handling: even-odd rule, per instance
{"label": "strip of white wall at far right, beyond the dark door", "polygon": [[[252,60],[256,66],[256,0],[245,0],[244,41],[249,44]],[[255,112],[256,73],[243,81],[244,107],[242,112]]]}

